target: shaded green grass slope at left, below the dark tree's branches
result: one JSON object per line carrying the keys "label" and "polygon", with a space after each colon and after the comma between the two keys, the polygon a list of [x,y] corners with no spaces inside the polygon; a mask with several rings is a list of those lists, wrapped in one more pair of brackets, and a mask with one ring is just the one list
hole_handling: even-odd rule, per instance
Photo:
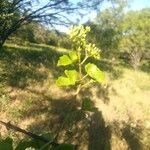
{"label": "shaded green grass slope at left, below the dark tree's branches", "polygon": [[[56,61],[61,55],[47,47],[7,47],[0,51],[0,81],[9,85],[24,88],[30,82],[42,82],[47,78],[49,70],[58,76]],[[42,66],[48,71],[42,70]],[[59,69],[58,69],[59,70]]]}

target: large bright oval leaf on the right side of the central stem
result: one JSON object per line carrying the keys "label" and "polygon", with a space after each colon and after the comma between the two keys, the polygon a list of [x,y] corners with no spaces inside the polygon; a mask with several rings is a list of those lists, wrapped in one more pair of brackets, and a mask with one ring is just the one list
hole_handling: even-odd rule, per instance
{"label": "large bright oval leaf on the right side of the central stem", "polygon": [[87,74],[91,78],[95,79],[97,82],[101,83],[104,81],[103,72],[95,64],[88,63],[85,66],[85,70],[86,70]]}

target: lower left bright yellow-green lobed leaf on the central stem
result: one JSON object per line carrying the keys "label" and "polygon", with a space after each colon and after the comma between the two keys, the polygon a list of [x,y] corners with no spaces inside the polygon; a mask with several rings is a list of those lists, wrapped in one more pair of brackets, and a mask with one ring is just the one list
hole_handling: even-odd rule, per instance
{"label": "lower left bright yellow-green lobed leaf on the central stem", "polygon": [[76,72],[76,70],[65,70],[65,74],[66,74],[67,77],[60,76],[56,80],[56,84],[58,86],[75,85],[75,82],[77,81],[77,72]]}

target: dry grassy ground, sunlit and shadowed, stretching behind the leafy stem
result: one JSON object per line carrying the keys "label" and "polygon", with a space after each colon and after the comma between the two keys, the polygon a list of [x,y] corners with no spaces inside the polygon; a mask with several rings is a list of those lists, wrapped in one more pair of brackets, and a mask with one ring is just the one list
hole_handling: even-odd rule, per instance
{"label": "dry grassy ground, sunlit and shadowed, stretching behind the leafy stem", "polygon": [[[79,109],[72,90],[55,79],[64,49],[47,45],[7,44],[0,51],[0,120],[35,133],[49,132],[81,150],[150,149],[150,72],[107,60],[96,62],[106,74],[104,86],[93,85],[80,96],[91,98],[95,113]],[[70,107],[73,110],[70,110]],[[1,136],[22,135],[0,126]]]}

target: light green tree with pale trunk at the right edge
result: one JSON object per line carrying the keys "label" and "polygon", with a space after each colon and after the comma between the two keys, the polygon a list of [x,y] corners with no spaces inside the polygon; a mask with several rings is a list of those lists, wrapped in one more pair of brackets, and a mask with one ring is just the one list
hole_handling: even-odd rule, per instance
{"label": "light green tree with pale trunk at the right edge", "polygon": [[150,49],[150,9],[131,11],[122,24],[120,48],[129,55],[130,64],[137,69]]}

